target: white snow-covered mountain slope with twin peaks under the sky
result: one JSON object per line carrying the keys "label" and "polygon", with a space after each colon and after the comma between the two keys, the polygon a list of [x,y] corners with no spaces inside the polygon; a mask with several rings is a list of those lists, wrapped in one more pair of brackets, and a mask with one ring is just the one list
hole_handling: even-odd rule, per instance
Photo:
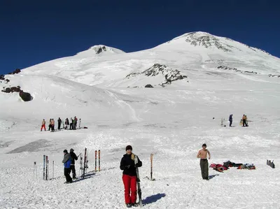
{"label": "white snow-covered mountain slope with twin peaks under the sky", "polygon": [[[19,85],[33,96],[24,102],[18,93],[0,92],[0,208],[123,208],[119,164],[128,144],[143,161],[144,208],[280,208],[280,87],[279,78],[268,76],[280,74],[279,58],[204,32],[141,52],[106,46],[97,54],[100,48],[31,66],[0,82],[1,89]],[[162,87],[165,75],[174,78],[178,71],[188,78]],[[239,126],[243,114],[249,127]],[[88,129],[39,131],[43,118],[75,115]],[[204,181],[196,158],[202,143],[211,152],[209,164],[230,160],[253,163],[256,170],[209,168],[211,180]],[[101,150],[102,171],[63,184],[63,150],[79,154],[84,147],[88,171],[94,170],[94,150]],[[151,153],[153,182],[146,178]],[[50,181],[42,180],[43,154],[50,158],[50,177],[55,162]]]}

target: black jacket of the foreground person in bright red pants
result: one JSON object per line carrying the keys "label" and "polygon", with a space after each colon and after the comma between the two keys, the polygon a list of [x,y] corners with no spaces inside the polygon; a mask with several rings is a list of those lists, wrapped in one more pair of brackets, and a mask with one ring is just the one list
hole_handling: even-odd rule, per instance
{"label": "black jacket of the foreground person in bright red pants", "polygon": [[[123,174],[135,176],[136,174],[136,167],[134,164],[134,160],[132,160],[132,154],[124,154],[122,160],[120,161],[120,170],[123,170]],[[142,166],[142,162],[138,157],[138,164],[137,167]]]}

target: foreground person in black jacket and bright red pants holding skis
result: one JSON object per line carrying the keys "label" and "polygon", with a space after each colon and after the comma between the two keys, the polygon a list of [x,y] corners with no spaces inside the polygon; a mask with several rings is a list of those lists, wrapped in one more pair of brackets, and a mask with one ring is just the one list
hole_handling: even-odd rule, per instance
{"label": "foreground person in black jacket and bright red pants holding skis", "polygon": [[123,155],[120,161],[120,170],[123,170],[123,185],[125,185],[125,204],[127,208],[137,207],[137,173],[136,168],[142,166],[138,158],[138,163],[134,163],[135,154],[132,153],[132,146],[125,148],[127,154]]}

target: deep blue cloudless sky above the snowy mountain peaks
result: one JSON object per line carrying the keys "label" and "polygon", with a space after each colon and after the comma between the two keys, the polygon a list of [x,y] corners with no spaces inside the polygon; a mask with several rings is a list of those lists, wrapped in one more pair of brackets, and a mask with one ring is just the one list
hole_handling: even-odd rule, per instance
{"label": "deep blue cloudless sky above the snowy mountain peaks", "polygon": [[0,0],[0,74],[92,45],[125,52],[207,31],[280,57],[280,1]]}

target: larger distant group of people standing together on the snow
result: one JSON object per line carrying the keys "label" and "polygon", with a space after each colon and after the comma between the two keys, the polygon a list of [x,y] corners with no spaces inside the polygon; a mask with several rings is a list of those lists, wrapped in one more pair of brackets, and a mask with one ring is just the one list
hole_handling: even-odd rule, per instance
{"label": "larger distant group of people standing together on the snow", "polygon": [[[71,117],[70,122],[68,120],[68,117],[65,120],[65,126],[64,122],[60,119],[60,117],[57,120],[57,130],[62,129],[61,126],[63,125],[63,129],[69,129],[70,130],[76,130],[78,124],[78,118],[75,116],[73,119]],[[41,131],[45,129],[45,119],[43,119],[42,124],[41,124]],[[48,131],[55,132],[55,120],[50,119],[49,125],[48,125]]]}

